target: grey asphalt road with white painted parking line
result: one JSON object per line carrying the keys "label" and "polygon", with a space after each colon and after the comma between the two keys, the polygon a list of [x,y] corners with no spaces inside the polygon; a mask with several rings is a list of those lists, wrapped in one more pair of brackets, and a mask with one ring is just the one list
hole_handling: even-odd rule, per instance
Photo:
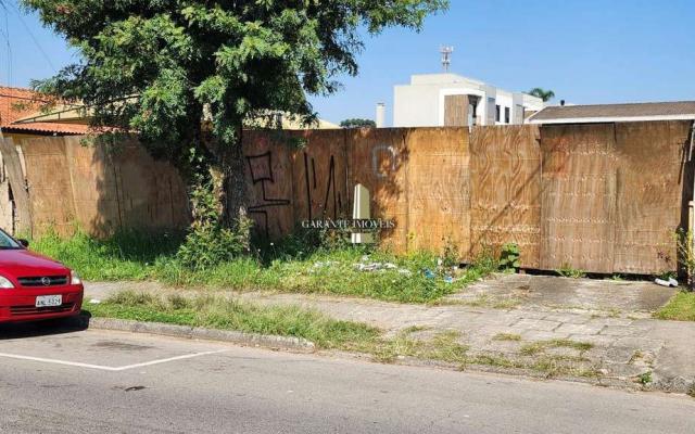
{"label": "grey asphalt road with white painted parking line", "polygon": [[695,399],[104,331],[0,328],[2,433],[693,433]]}

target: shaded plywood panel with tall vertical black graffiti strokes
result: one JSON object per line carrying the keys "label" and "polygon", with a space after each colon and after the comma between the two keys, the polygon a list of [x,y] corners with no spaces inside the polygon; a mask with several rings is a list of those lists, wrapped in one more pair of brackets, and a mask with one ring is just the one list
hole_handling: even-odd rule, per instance
{"label": "shaded plywood panel with tall vertical black graffiti strokes", "polygon": [[305,140],[305,145],[293,153],[295,220],[352,217],[348,130],[313,130],[298,135]]}

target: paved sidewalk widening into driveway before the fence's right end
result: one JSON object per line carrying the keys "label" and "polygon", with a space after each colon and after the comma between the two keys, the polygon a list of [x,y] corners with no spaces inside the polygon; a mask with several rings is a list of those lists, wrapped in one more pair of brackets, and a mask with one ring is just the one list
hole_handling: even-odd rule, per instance
{"label": "paved sidewalk widening into driveway before the fence's right end", "polygon": [[[126,289],[172,291],[153,282],[89,283],[86,298]],[[680,393],[695,385],[695,322],[650,319],[650,311],[674,290],[649,282],[496,275],[439,306],[285,293],[185,293],[211,291],[266,305],[318,309],[337,319],[377,326],[390,336],[412,331],[410,337],[428,340],[457,331],[470,354],[491,360],[483,369],[525,371],[517,368],[542,360],[571,363],[580,376],[595,372],[580,380],[598,384]]]}

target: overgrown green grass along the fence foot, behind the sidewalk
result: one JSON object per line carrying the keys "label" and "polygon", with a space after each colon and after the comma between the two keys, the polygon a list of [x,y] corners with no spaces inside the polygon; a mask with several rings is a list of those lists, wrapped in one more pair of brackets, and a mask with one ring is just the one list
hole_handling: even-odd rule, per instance
{"label": "overgrown green grass along the fence foot, behind the sidewalk", "polygon": [[[170,285],[224,288],[236,291],[350,295],[400,303],[430,303],[460,291],[495,270],[494,260],[481,260],[446,282],[437,255],[396,256],[363,246],[321,248],[298,242],[268,244],[255,256],[242,256],[204,270],[181,266],[176,252],[182,234],[119,232],[97,240],[77,231],[68,239],[48,233],[31,243],[38,253],[75,269],[85,280],[156,280]],[[359,264],[388,264],[362,271]],[[507,307],[509,303],[503,303]]]}

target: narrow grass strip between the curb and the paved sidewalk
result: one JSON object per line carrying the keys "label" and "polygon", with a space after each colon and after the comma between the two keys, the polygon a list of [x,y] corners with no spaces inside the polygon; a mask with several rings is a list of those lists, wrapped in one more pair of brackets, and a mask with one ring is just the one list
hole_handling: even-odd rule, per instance
{"label": "narrow grass strip between the curb and the paved sidewalk", "polygon": [[[413,333],[428,330],[414,326],[395,337],[387,339],[381,330],[368,324],[336,320],[298,306],[258,306],[214,295],[185,297],[126,291],[101,304],[86,305],[85,308],[94,317],[303,337],[314,342],[320,349],[368,354],[376,361],[384,363],[410,357],[439,360],[462,369],[467,365],[485,365],[529,369],[546,376],[599,375],[584,366],[587,360],[582,357],[539,354],[533,358],[510,359],[496,354],[469,355],[469,347],[460,343],[460,332],[455,330],[439,332],[430,339],[414,339]],[[517,336],[504,337],[515,341]],[[570,345],[587,348],[587,344],[548,342],[543,347]]]}

